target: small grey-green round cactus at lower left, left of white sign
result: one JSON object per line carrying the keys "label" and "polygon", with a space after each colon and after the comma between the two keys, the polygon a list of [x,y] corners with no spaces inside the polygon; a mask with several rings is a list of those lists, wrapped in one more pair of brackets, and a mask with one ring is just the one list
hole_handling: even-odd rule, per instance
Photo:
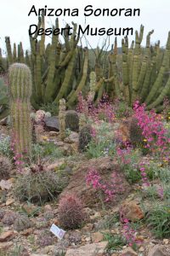
{"label": "small grey-green round cactus at lower left, left of white sign", "polygon": [[14,230],[22,231],[31,227],[30,219],[26,215],[19,215],[14,221]]}

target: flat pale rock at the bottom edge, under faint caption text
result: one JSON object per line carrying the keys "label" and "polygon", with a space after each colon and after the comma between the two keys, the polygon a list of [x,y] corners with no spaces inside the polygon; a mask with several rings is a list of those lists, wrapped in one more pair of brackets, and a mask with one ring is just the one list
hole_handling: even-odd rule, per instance
{"label": "flat pale rock at the bottom edge, under faint caption text", "polygon": [[85,246],[68,249],[65,256],[98,256],[104,255],[108,242],[91,243]]}

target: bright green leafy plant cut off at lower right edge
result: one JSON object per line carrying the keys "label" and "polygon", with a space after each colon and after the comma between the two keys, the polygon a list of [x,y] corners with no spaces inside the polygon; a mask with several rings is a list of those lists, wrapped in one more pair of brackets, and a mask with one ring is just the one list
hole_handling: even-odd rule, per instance
{"label": "bright green leafy plant cut off at lower right edge", "polygon": [[167,205],[157,205],[148,213],[148,227],[156,238],[170,237],[170,207]]}

